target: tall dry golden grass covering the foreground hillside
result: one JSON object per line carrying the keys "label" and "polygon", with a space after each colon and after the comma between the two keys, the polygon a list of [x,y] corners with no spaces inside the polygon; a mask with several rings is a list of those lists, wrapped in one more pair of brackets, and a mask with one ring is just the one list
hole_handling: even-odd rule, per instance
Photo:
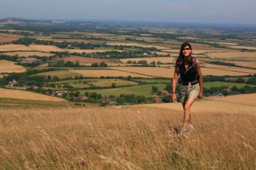
{"label": "tall dry golden grass covering the foreground hillside", "polygon": [[127,107],[1,109],[0,169],[255,169],[256,117]]}

